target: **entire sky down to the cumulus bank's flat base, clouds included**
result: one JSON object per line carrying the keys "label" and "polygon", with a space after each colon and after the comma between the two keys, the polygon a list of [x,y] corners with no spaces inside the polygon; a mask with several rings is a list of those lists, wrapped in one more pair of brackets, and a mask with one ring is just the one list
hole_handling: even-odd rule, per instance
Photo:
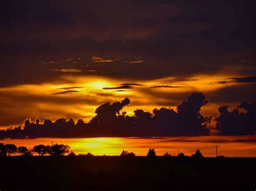
{"label": "entire sky down to the cumulus bank's flat base, clouds included", "polygon": [[3,2],[0,138],[253,135],[255,7]]}

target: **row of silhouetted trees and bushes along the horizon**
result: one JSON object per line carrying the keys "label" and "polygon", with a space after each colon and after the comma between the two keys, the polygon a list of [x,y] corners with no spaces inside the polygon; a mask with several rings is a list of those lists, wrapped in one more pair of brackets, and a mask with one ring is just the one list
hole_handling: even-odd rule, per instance
{"label": "row of silhouetted trees and bushes along the horizon", "polygon": [[[27,148],[25,146],[19,146],[17,147],[14,144],[6,144],[4,145],[3,143],[0,143],[0,157],[6,157],[10,155],[22,155],[22,156],[32,156],[34,153],[37,153],[39,156],[44,156],[44,155],[51,155],[51,156],[61,156],[68,154],[70,157],[75,156],[76,153],[73,151],[70,151],[70,146],[69,145],[64,145],[64,144],[53,144],[52,146],[50,145],[36,145],[33,148]],[[87,154],[80,153],[78,156],[85,156],[85,157],[92,157],[93,154],[88,152]],[[154,158],[156,157],[156,151],[154,148],[150,148],[149,151],[147,152],[147,157],[148,158]],[[163,155],[165,158],[172,157],[170,153],[166,152]],[[122,153],[120,154],[120,157],[136,157],[136,154],[134,152],[128,152],[123,150]],[[177,157],[183,158],[183,157],[188,157],[185,156],[184,153],[178,153]],[[199,149],[195,151],[191,155],[193,158],[203,158],[203,154],[200,152]],[[223,157],[223,156],[219,156]]]}

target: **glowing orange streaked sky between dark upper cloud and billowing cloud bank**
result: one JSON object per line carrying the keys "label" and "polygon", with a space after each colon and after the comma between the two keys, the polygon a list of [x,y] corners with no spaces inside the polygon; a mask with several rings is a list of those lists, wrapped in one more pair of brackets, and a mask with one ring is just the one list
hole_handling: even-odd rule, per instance
{"label": "glowing orange streaked sky between dark upper cloud and billowing cloud bank", "polygon": [[[97,75],[77,77],[67,72],[63,76],[65,81],[59,79],[52,83],[21,84],[0,88],[4,100],[0,128],[21,125],[26,118],[32,120],[39,118],[43,121],[45,118],[54,120],[60,117],[73,117],[75,120],[83,118],[85,122],[89,122],[95,116],[95,109],[100,104],[120,101],[125,97],[129,97],[131,104],[123,110],[130,116],[136,109],[150,112],[160,107],[176,109],[177,105],[192,92],[203,92],[209,99],[209,103],[201,110],[203,115],[217,116],[217,109],[220,106],[228,104],[232,109],[239,104],[233,101],[223,103],[212,100],[218,90],[241,86],[230,80],[230,77],[231,75],[218,74],[191,76],[191,81],[177,80],[174,77],[155,80],[118,80]],[[219,81],[230,83],[221,84],[218,83]],[[123,89],[122,84],[126,83],[140,86]]]}

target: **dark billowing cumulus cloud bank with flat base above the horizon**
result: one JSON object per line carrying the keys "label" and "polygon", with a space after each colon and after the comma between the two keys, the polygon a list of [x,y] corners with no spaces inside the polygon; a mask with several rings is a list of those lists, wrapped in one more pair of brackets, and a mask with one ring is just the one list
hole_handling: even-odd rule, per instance
{"label": "dark billowing cumulus cloud bank with flat base above the horizon", "polygon": [[[129,98],[122,102],[107,102],[100,105],[96,116],[89,123],[73,118],[59,118],[55,122],[45,119],[43,124],[36,119],[24,121],[24,128],[10,128],[0,131],[0,138],[38,138],[38,137],[150,137],[150,136],[200,136],[210,135],[206,125],[211,121],[211,116],[200,114],[201,107],[208,100],[201,93],[193,93],[173,109],[154,109],[153,113],[141,109],[134,111],[134,116],[127,116],[122,112],[125,105],[130,104]],[[217,121],[219,135],[253,135],[255,129],[255,102],[242,102],[238,109],[227,111],[227,106],[220,107],[220,116]],[[242,140],[241,140],[242,141]]]}

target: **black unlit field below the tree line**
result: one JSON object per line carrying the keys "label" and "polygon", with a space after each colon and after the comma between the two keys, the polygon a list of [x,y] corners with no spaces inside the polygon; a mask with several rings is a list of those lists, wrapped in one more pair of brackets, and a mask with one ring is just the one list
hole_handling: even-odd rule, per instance
{"label": "black unlit field below the tree line", "polygon": [[256,158],[6,157],[0,190],[255,190]]}

